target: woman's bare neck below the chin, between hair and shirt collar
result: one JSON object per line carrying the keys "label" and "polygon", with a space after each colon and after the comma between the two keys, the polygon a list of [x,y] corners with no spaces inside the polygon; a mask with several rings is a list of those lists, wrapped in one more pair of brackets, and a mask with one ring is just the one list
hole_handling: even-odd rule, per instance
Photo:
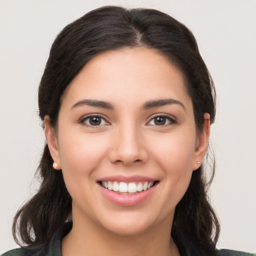
{"label": "woman's bare neck below the chin, between hair and shirt collar", "polygon": [[62,239],[62,256],[177,256],[176,245],[170,236],[172,220],[163,220],[139,234],[120,235],[91,221],[76,221]]}

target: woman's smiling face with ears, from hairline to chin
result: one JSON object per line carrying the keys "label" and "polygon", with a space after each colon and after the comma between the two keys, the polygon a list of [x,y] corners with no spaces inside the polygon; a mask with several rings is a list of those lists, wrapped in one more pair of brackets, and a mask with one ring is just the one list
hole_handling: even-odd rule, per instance
{"label": "woman's smiling face with ears, from hairline to chin", "polygon": [[119,234],[170,228],[206,133],[196,135],[181,72],[146,48],[91,59],[64,92],[57,132],[45,119],[73,221]]}

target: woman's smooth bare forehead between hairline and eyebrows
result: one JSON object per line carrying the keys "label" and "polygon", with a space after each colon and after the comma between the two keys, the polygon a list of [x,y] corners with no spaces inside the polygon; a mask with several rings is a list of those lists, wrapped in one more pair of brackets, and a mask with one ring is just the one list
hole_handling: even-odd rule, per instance
{"label": "woman's smooth bare forehead between hairline and eyebrows", "polygon": [[[63,95],[72,104],[81,98],[135,104],[156,98],[190,101],[181,71],[154,49],[124,48],[103,52],[81,69]],[[62,102],[63,102],[62,101]]]}

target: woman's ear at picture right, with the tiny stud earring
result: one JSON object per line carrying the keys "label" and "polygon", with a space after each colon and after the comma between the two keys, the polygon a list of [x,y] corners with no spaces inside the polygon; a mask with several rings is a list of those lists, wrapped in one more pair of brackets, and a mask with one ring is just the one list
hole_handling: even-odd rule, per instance
{"label": "woman's ear at picture right, with the tiny stud earring", "polygon": [[196,170],[199,168],[208,146],[208,139],[210,135],[210,115],[208,113],[204,113],[203,116],[204,116],[203,130],[200,132],[200,134],[197,135],[196,143],[195,143],[193,170]]}

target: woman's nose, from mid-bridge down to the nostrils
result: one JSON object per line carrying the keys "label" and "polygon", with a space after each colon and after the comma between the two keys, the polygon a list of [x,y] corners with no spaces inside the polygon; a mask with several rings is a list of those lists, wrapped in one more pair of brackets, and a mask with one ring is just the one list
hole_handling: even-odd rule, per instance
{"label": "woman's nose, from mid-bridge down to the nostrils", "polygon": [[143,163],[148,159],[145,138],[141,131],[132,125],[118,127],[112,138],[109,159],[113,163],[130,165]]}

